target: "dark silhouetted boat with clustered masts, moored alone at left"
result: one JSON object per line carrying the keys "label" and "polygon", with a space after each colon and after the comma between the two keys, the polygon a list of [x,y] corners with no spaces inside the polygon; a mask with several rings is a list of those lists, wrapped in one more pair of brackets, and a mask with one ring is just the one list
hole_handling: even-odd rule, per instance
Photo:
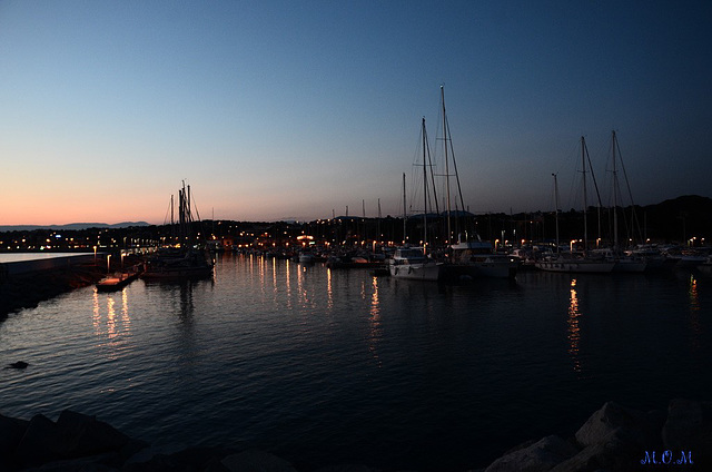
{"label": "dark silhouetted boat with clustered masts, moored alone at left", "polygon": [[[171,197],[171,226],[174,226]],[[192,213],[190,210],[190,186],[178,190],[178,232],[179,243],[161,247],[145,264],[141,278],[148,281],[180,281],[206,278],[212,275],[212,259],[207,249],[194,247]]]}

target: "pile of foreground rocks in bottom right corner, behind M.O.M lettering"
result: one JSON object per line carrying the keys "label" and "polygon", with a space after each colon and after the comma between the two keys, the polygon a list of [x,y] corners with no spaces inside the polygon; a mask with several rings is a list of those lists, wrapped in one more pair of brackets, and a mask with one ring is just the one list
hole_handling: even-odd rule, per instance
{"label": "pile of foreground rocks in bottom right corner, behind M.O.M lettering", "polygon": [[512,451],[486,472],[712,470],[712,403],[673,400],[668,414],[609,402],[566,442],[556,436]]}

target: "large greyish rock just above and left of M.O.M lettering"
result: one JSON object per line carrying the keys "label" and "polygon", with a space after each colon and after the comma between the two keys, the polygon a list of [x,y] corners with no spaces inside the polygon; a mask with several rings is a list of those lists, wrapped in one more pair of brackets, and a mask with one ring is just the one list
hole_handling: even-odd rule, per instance
{"label": "large greyish rock just above and left of M.O.M lettering", "polygon": [[639,448],[657,448],[663,422],[660,412],[645,413],[607,402],[578,429],[576,441],[582,446],[600,444],[609,441],[611,433],[623,429],[625,433],[619,434],[620,440],[631,441]]}

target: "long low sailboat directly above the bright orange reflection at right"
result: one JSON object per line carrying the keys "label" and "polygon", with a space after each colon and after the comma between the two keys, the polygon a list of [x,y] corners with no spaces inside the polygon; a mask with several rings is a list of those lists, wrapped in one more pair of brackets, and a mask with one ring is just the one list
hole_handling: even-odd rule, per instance
{"label": "long low sailboat directly above the bright orange reflection at right", "polygon": [[[613,271],[615,266],[614,260],[609,260],[603,257],[595,258],[590,257],[589,255],[589,224],[586,217],[586,140],[582,136],[581,137],[581,160],[583,164],[582,170],[582,181],[583,181],[583,253],[574,254],[573,253],[573,244],[571,253],[557,253],[553,256],[546,257],[542,260],[537,260],[534,265],[536,268],[546,271],[546,272],[565,272],[565,273],[575,273],[575,274],[605,274]],[[589,163],[589,166],[591,163]],[[554,186],[557,185],[556,175],[554,176]],[[555,190],[556,194],[556,227],[558,227],[558,188]],[[558,234],[556,235],[558,239]],[[556,243],[556,250],[558,252],[558,240]]]}

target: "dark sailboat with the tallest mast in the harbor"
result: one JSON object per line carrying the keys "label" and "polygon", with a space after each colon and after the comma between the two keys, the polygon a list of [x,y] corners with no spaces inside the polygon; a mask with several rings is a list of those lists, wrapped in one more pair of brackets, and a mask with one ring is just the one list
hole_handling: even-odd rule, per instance
{"label": "dark sailboat with the tallest mast in the harbor", "polygon": [[[467,275],[471,277],[498,277],[498,278],[514,278],[518,263],[504,254],[495,254],[492,243],[488,240],[482,240],[479,235],[474,233],[471,238],[462,240],[462,234],[458,234],[457,243],[452,244],[452,227],[451,227],[451,189],[449,189],[449,159],[453,159],[453,170],[455,181],[457,183],[457,195],[459,196],[459,203],[464,208],[463,193],[459,187],[459,175],[457,174],[457,164],[455,163],[455,153],[452,148],[452,139],[449,135],[449,126],[447,122],[447,115],[445,112],[445,88],[441,86],[441,104],[443,114],[443,142],[444,142],[444,160],[445,160],[445,191],[447,201],[447,243],[449,244],[449,250],[452,254],[451,264],[447,265],[447,271],[456,276]],[[448,156],[449,146],[449,156]]]}

